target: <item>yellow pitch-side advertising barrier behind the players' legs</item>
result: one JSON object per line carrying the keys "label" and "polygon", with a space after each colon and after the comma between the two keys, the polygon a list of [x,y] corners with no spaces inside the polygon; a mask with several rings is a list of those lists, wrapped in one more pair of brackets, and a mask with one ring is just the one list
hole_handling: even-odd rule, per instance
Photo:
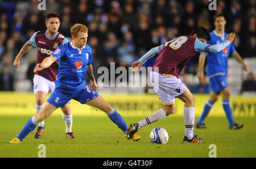
{"label": "yellow pitch-side advertising barrier behind the players' legs", "polygon": [[[156,94],[142,94],[142,95],[101,95],[105,98],[119,113],[123,116],[146,116],[151,115],[156,110],[163,108],[161,100]],[[196,96],[196,111],[195,116],[199,117],[204,108],[204,103],[209,98],[208,95]],[[47,98],[49,94],[47,95]],[[179,99],[175,99],[176,112],[172,116],[183,117],[184,103]],[[230,105],[233,110],[234,117],[254,117],[256,116],[256,96],[243,97],[232,96]],[[105,113],[100,110],[90,107],[89,105],[82,105],[76,100],[71,100],[71,108],[73,115],[86,116],[105,116]],[[24,116],[35,115],[35,96],[32,92],[0,92],[0,116]],[[57,109],[53,115],[62,116],[60,109]],[[222,108],[222,99],[213,105],[209,116],[225,117],[224,109]]]}

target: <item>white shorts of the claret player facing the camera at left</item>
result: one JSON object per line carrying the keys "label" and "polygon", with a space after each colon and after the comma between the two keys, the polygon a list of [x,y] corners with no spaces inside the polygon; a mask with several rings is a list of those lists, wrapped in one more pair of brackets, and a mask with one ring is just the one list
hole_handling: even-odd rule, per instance
{"label": "white shorts of the claret player facing the camera at left", "polygon": [[34,83],[34,94],[38,91],[44,91],[48,94],[49,91],[53,92],[55,90],[55,83],[49,81],[48,79],[40,76],[35,75],[33,78]]}

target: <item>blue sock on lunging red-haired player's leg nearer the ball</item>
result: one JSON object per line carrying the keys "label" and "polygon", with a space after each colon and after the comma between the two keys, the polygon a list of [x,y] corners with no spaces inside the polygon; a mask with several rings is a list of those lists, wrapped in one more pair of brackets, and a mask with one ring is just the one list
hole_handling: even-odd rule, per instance
{"label": "blue sock on lunging red-haired player's leg nearer the ball", "polygon": [[127,128],[125,120],[123,120],[123,117],[121,115],[119,115],[119,113],[117,111],[115,111],[114,108],[112,109],[112,111],[110,113],[111,113],[110,115],[108,115],[108,113],[107,113],[109,119],[111,121],[113,121],[118,126],[118,128],[123,131],[123,133],[125,133],[128,128]]}

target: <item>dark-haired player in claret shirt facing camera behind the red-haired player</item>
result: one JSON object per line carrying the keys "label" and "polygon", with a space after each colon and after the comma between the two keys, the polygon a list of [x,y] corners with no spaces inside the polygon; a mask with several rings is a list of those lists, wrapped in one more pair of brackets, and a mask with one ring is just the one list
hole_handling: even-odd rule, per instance
{"label": "dark-haired player in claret shirt facing camera behind the red-haired player", "polygon": [[[46,27],[47,31],[35,32],[30,40],[28,40],[26,44],[23,45],[22,49],[20,49],[14,60],[13,65],[15,67],[19,67],[20,58],[32,47],[36,47],[38,49],[38,57],[36,63],[39,64],[44,60],[44,58],[49,57],[54,50],[59,48],[60,45],[68,43],[67,37],[64,37],[61,35],[61,33],[58,32],[60,27],[60,19],[58,14],[50,13],[46,16]],[[47,69],[35,72],[33,83],[34,94],[36,98],[36,113],[38,113],[43,108],[48,91],[53,92],[55,90],[54,81],[56,81],[58,68],[58,63],[53,62],[53,64]],[[63,111],[63,120],[66,125],[66,138],[75,138],[72,133],[73,116],[69,104],[66,104],[63,108],[61,108],[61,110]],[[38,130],[34,134],[34,137],[41,138],[44,130],[46,130],[46,125],[44,124],[44,121],[42,121],[39,123]]]}

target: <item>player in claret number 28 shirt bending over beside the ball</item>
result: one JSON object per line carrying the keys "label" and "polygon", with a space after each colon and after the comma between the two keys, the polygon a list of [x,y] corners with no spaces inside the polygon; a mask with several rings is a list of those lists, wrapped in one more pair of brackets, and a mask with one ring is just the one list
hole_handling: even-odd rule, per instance
{"label": "player in claret number 28 shirt bending over beside the ball", "polygon": [[206,44],[210,40],[209,31],[204,27],[193,29],[191,35],[179,36],[174,40],[167,41],[159,47],[152,48],[144,54],[138,61],[134,62],[131,69],[138,70],[149,58],[159,54],[150,73],[150,81],[159,99],[164,104],[163,109],[159,109],[135,124],[131,124],[126,132],[129,139],[137,133],[143,126],[163,119],[175,112],[175,98],[182,100],[184,104],[185,136],[183,142],[201,143],[204,140],[193,134],[195,121],[195,96],[179,79],[179,75],[185,64],[195,56],[196,52],[219,52],[232,43],[234,33],[226,36],[223,43],[210,45]]}

